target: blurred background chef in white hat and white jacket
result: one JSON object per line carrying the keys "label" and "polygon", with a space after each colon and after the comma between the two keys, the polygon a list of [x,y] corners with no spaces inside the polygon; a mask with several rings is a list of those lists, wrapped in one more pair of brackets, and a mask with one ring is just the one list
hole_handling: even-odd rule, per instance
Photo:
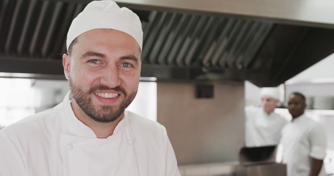
{"label": "blurred background chef in white hat and white jacket", "polygon": [[278,88],[265,87],[261,89],[261,107],[245,107],[246,147],[279,144],[281,130],[288,121],[274,112],[278,103]]}

